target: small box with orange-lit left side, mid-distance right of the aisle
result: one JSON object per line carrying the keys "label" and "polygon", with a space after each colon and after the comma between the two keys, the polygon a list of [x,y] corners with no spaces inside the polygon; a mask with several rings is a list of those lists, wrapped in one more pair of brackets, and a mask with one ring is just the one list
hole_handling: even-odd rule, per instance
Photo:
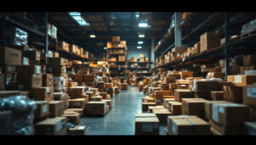
{"label": "small box with orange-lit left side, mid-distance right of the aisle", "polygon": [[194,98],[194,92],[189,91],[189,89],[176,89],[174,90],[174,98],[181,102],[182,98]]}

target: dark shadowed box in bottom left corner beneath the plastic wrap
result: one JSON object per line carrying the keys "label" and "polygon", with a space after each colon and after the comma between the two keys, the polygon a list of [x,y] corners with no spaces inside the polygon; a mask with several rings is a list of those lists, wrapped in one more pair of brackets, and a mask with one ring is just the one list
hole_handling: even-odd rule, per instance
{"label": "dark shadowed box in bottom left corner beneath the plastic wrap", "polygon": [[12,134],[13,114],[11,110],[0,111],[0,135]]}

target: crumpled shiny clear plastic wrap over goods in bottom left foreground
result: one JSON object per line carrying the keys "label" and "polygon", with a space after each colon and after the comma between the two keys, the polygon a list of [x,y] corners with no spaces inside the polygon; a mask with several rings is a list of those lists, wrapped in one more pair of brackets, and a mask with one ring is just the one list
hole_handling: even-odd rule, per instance
{"label": "crumpled shiny clear plastic wrap over goods in bottom left foreground", "polygon": [[33,111],[37,104],[26,96],[15,95],[0,98],[0,110],[11,110],[13,113],[12,133],[15,135],[33,134]]}

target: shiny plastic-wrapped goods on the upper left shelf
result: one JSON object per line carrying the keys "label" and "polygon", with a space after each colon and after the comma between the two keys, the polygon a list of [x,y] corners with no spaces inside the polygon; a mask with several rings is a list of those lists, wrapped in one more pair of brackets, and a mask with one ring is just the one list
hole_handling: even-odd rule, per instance
{"label": "shiny plastic-wrapped goods on the upper left shelf", "polygon": [[27,45],[27,32],[17,27],[8,27],[3,29],[3,40],[6,45],[24,46]]}

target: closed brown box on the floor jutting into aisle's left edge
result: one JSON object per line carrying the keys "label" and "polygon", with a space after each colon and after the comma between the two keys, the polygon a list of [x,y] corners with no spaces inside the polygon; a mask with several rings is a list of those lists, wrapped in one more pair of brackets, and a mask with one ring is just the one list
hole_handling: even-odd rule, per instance
{"label": "closed brown box on the floor jutting into aisle's left edge", "polygon": [[89,103],[86,103],[85,110],[88,115],[105,115],[107,114],[107,102],[90,101]]}

